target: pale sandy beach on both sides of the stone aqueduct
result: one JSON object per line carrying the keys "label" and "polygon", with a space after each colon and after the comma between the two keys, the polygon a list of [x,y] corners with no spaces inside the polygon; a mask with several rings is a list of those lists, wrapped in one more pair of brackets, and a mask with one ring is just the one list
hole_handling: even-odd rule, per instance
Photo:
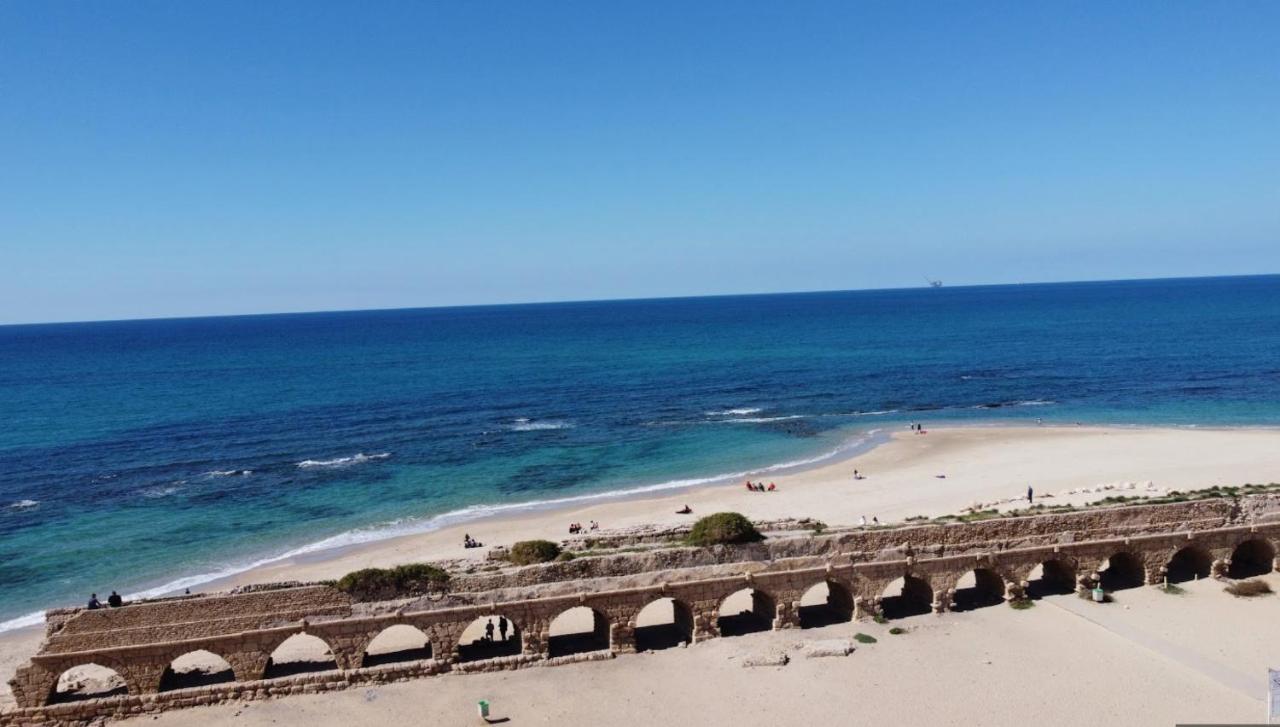
{"label": "pale sandy beach on both sides of the stone aqueduct", "polygon": [[[863,479],[855,480],[854,470]],[[462,548],[463,531],[492,547],[529,538],[561,539],[570,522],[594,520],[602,531],[609,531],[689,522],[718,511],[739,511],[759,520],[817,517],[831,525],[852,525],[863,516],[868,521],[877,517],[897,522],[972,506],[1024,507],[1021,498],[1028,486],[1046,503],[1083,503],[1116,494],[1164,494],[1277,480],[1280,430],[904,430],[854,458],[772,477],[768,481],[777,485],[772,493],[751,493],[733,483],[529,512],[282,561],[193,590],[330,579],[361,567],[413,561],[483,558],[486,548]],[[676,515],[685,504],[692,508],[692,516]],[[1071,704],[1051,710],[1061,723],[1075,722],[1089,710],[1119,718],[1128,705],[1139,701],[1143,723],[1249,719],[1261,713],[1265,667],[1280,651],[1280,635],[1271,626],[1272,599],[1243,602],[1222,594],[1219,584],[1204,582],[1196,584],[1185,598],[1143,589],[1124,594],[1114,608],[1082,612],[1082,604],[1069,596],[1025,613],[992,608],[922,617],[908,625],[906,636],[888,636],[874,623],[829,627],[824,631],[833,636],[863,630],[881,637],[881,644],[847,659],[797,659],[776,673],[744,672],[739,663],[753,650],[791,648],[822,632],[721,639],[607,664],[447,676],[367,694],[178,712],[161,721],[177,724],[234,719],[237,724],[255,724],[297,710],[289,712],[291,718],[307,713],[317,724],[342,724],[372,719],[371,712],[360,710],[375,709],[381,710],[385,722],[407,723],[410,714],[424,709],[470,714],[475,699],[499,695],[513,723],[568,718],[639,723],[627,717],[639,714],[634,710],[640,708],[646,710],[646,722],[678,719],[689,709],[712,704],[717,705],[716,717],[708,718],[713,724],[764,723],[769,710],[773,719],[783,714],[833,719],[858,713],[890,723],[908,718],[1007,723],[1051,701]],[[0,669],[12,673],[38,646],[40,634],[29,628],[0,636]],[[928,689],[938,695],[932,701],[914,698],[925,686],[920,681],[924,664],[934,685]],[[973,687],[973,669],[978,668],[983,685]],[[705,682],[709,689],[687,689],[704,676],[710,680]],[[570,682],[579,685],[573,696],[559,689]],[[841,687],[850,683],[864,689]],[[980,698],[959,699],[965,689]],[[8,690],[0,698],[6,700],[3,704],[12,704]],[[785,709],[791,712],[780,712]]]}

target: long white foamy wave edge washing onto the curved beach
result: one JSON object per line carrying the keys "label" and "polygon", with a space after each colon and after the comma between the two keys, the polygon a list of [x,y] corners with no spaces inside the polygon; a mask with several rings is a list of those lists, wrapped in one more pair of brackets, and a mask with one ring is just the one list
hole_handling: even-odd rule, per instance
{"label": "long white foamy wave edge washing onto the curved beach", "polygon": [[[465,507],[461,509],[454,509],[442,515],[435,515],[428,518],[401,518],[392,522],[385,522],[370,527],[361,527],[356,530],[348,530],[346,532],[339,532],[330,538],[317,540],[315,543],[308,543],[298,548],[293,548],[278,555],[270,555],[266,558],[260,558],[251,562],[243,562],[237,564],[229,564],[227,567],[219,568],[216,571],[209,571],[205,573],[197,573],[192,576],[182,576],[160,584],[154,587],[140,590],[137,593],[127,594],[125,600],[140,600],[147,598],[159,598],[163,595],[177,594],[183,589],[195,587],[202,584],[209,584],[212,581],[219,581],[223,579],[229,579],[234,575],[243,573],[246,571],[252,571],[253,568],[260,568],[262,566],[269,566],[271,563],[278,563],[280,561],[288,561],[289,558],[297,558],[300,555],[306,555],[311,553],[317,553],[321,550],[332,550],[334,548],[343,548],[349,545],[361,545],[365,543],[376,543],[379,540],[388,540],[390,538],[399,538],[403,535],[417,535],[421,532],[433,532],[442,530],[444,527],[451,527],[454,525],[461,525],[465,522],[472,522],[476,520],[484,520],[497,515],[509,515],[513,512],[536,512],[540,509],[553,509],[564,504],[585,503],[585,502],[598,502],[608,499],[623,499],[628,497],[643,495],[648,493],[658,493],[666,490],[680,490],[687,488],[695,488],[699,485],[712,485],[717,483],[735,483],[744,477],[755,477],[759,475],[776,474],[785,470],[794,470],[799,467],[808,467],[812,465],[818,465],[827,459],[833,459],[842,454],[850,454],[864,447],[874,445],[887,438],[879,429],[868,430],[859,436],[852,436],[836,448],[817,454],[814,457],[806,457],[803,459],[791,459],[787,462],[778,462],[776,465],[769,465],[765,467],[759,467],[755,470],[742,470],[737,472],[723,472],[719,475],[712,475],[708,477],[690,477],[684,480],[668,480],[666,483],[658,483],[652,485],[640,485],[635,488],[625,488],[618,490],[608,490],[603,493],[588,493],[581,495],[570,495],[563,498],[544,499],[544,500],[527,500],[520,503],[506,503],[506,504],[476,504]],[[0,632],[12,631],[14,628],[23,628],[28,626],[38,626],[45,621],[45,612],[37,611],[35,613],[28,613],[27,616],[20,616],[18,618],[12,618],[9,621],[0,622]]]}

